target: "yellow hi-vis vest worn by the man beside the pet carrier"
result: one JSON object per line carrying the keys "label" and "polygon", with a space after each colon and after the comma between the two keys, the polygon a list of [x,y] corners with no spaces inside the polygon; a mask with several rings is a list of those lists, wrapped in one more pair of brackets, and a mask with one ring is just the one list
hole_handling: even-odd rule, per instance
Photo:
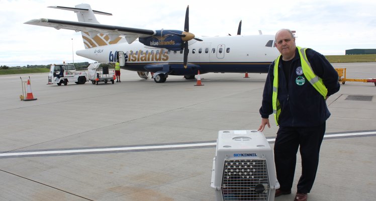
{"label": "yellow hi-vis vest worn by the man beside the pet carrier", "polygon": [[[323,80],[318,77],[312,70],[311,64],[307,59],[306,50],[307,48],[301,48],[298,47],[298,52],[300,56],[300,61],[303,69],[303,74],[306,76],[307,80],[312,84],[312,86],[324,97],[326,98],[326,95],[328,94],[328,89],[325,87]],[[273,105],[273,114],[275,123],[278,126],[278,117],[280,114],[280,104],[279,100],[277,98],[278,94],[278,63],[279,58],[281,55],[278,56],[278,58],[274,61],[274,79],[273,79],[273,94],[272,94],[272,105]],[[289,80],[286,80],[289,81]]]}

